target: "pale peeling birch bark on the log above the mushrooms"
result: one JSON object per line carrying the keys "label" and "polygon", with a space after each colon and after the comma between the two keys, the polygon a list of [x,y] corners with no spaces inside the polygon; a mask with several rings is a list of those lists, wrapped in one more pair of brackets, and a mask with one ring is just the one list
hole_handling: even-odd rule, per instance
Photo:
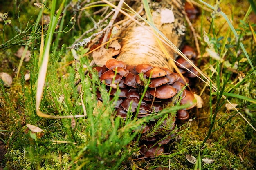
{"label": "pale peeling birch bark on the log above the mushrooms", "polygon": [[[140,2],[137,2],[133,9],[137,9],[141,6]],[[155,26],[164,35],[173,42],[178,48],[184,40],[184,20],[183,16],[177,8],[172,4],[170,0],[161,0],[160,2],[151,3],[151,13]],[[171,13],[165,13],[163,10],[172,9]],[[168,11],[168,10],[167,10]],[[174,17],[174,22],[168,23],[168,20]],[[166,21],[167,23],[163,23]],[[157,67],[166,67],[172,69],[168,64],[168,58],[162,52],[162,49],[157,42],[155,35],[150,26],[142,27],[138,24],[130,24],[128,28],[121,33],[121,37],[124,39],[121,41],[121,52],[117,57],[117,60],[121,60],[129,65],[137,65],[141,63],[148,63]],[[168,51],[168,55],[171,58],[174,57],[174,52],[168,46],[165,46]]]}

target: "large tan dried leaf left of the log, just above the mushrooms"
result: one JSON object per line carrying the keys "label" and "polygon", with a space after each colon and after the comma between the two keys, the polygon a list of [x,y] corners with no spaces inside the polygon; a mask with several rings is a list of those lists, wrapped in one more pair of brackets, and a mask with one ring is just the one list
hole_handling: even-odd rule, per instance
{"label": "large tan dried leaf left of the log, just above the mushrooms", "polygon": [[119,50],[115,50],[114,48],[98,49],[92,53],[92,57],[95,64],[102,67],[105,65],[106,61],[117,54],[119,54]]}

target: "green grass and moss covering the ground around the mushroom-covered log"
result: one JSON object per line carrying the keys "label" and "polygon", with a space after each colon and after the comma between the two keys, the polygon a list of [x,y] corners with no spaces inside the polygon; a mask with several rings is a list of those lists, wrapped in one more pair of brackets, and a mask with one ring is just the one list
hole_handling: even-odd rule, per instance
{"label": "green grass and moss covering the ground around the mushroom-covered log", "polygon": [[[249,2],[253,4],[254,1]],[[220,16],[202,11],[205,15],[195,21],[199,24],[194,23],[199,25],[196,29],[202,38],[201,53],[204,54],[206,48],[213,51],[213,56],[199,60],[201,70],[209,77],[208,80],[204,79],[209,86],[203,87],[200,82],[194,88],[204,100],[204,106],[192,110],[191,117],[195,117],[193,121],[177,127],[177,135],[165,146],[164,155],[137,159],[140,136],[138,127],[153,117],[162,117],[158,122],[160,124],[166,112],[175,113],[180,106],[166,108],[158,115],[144,119],[115,118],[113,106],[117,97],[114,102],[109,102],[109,94],[89,66],[92,59],[90,56],[83,57],[88,49],[76,49],[79,62],[72,62],[74,53],[66,48],[94,26],[92,20],[97,21],[101,17],[92,15],[88,19],[82,13],[80,21],[83,22],[80,24],[83,30],[79,30],[79,18],[70,20],[79,11],[68,7],[61,19],[58,19],[61,11],[56,14],[56,9],[61,5],[67,7],[69,1],[45,2],[48,8],[44,8],[44,13],[50,15],[52,24],[44,26],[42,41],[39,24],[42,9],[29,6],[28,2],[20,2],[18,7],[14,2],[10,3],[10,7],[19,10],[9,9],[7,20],[11,20],[11,25],[0,24],[0,28],[4,29],[0,35],[3,42],[0,44],[0,61],[7,63],[5,68],[0,68],[0,72],[13,75],[13,68],[17,68],[20,74],[17,78],[13,75],[13,84],[9,88],[0,83],[0,140],[7,145],[8,150],[0,163],[5,169],[155,170],[165,167],[184,170],[249,170],[256,167],[256,132],[252,128],[256,127],[256,42],[252,33],[256,25],[249,24],[247,20],[254,13],[254,6],[246,9],[245,15],[240,16],[240,20],[231,26],[229,19],[238,18],[235,10],[232,15],[228,15],[229,11],[224,11],[224,2],[214,7],[213,4],[203,2],[211,9],[223,9]],[[74,7],[80,4],[80,1],[72,2]],[[92,6],[88,8],[88,13],[105,6]],[[28,11],[27,15],[25,10]],[[212,18],[207,22],[205,16]],[[219,25],[223,21],[222,16],[227,21],[224,24],[226,30]],[[57,23],[60,27],[55,30]],[[100,29],[93,33],[98,31]],[[92,33],[86,36],[90,35]],[[187,41],[191,39],[189,35],[188,30]],[[31,59],[27,63],[13,57],[14,51],[21,44],[31,51]],[[214,52],[218,53],[217,58]],[[43,62],[45,64],[41,65]],[[69,62],[72,64],[66,65]],[[40,76],[43,66],[48,70]],[[92,79],[88,75],[84,76],[86,69],[92,73]],[[30,71],[30,81],[24,79],[27,70]],[[42,81],[42,77],[45,78],[45,86],[41,86],[41,97],[38,98],[38,82]],[[77,92],[75,86],[78,78],[81,78],[81,93]],[[97,101],[97,89],[104,98],[102,104]],[[238,110],[227,110],[227,101],[238,104]],[[38,116],[38,109],[55,119]],[[77,115],[86,116],[60,117]],[[35,135],[27,128],[27,124],[40,127],[43,133]],[[197,159],[196,164],[189,163],[186,155],[193,155]],[[214,159],[214,163],[204,163],[204,158]]]}

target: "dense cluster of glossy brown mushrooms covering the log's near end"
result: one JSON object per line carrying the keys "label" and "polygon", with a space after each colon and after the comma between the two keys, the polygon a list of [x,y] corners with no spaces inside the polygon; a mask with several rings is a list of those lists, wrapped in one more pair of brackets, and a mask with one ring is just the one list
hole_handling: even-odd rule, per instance
{"label": "dense cluster of glossy brown mushrooms covering the log's near end", "polygon": [[[122,61],[110,59],[104,66],[93,69],[97,71],[101,83],[106,85],[106,91],[111,89],[110,95],[112,97],[116,95],[117,89],[110,88],[110,86],[119,87],[121,92],[118,94],[119,99],[115,104],[115,114],[124,119],[128,115],[141,118],[161,111],[163,106],[175,103],[174,96],[185,86],[179,74],[168,68],[153,67],[150,64],[129,66]],[[148,89],[139,104],[144,86],[149,79]],[[99,100],[103,100],[99,91],[97,97]],[[155,128],[155,124],[158,120],[155,119],[141,127],[140,151],[144,157],[154,157],[156,153],[162,152],[162,145],[167,144],[174,136],[172,131],[177,121],[189,119],[187,110],[196,105],[196,99],[193,93],[186,89],[180,93],[180,99],[180,104],[186,105],[186,109],[178,110],[176,115],[169,114],[167,119],[164,119],[157,128]],[[138,113],[137,110],[139,110]],[[155,143],[157,143],[156,147],[150,147]]]}

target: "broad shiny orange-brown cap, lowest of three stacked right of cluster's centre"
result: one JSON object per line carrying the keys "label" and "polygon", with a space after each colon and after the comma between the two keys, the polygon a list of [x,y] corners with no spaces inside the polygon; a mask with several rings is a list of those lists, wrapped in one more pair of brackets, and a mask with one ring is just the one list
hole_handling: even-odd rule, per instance
{"label": "broad shiny orange-brown cap, lowest of three stacked right of cluster's centre", "polygon": [[169,84],[164,84],[162,86],[157,87],[156,91],[155,88],[151,88],[149,92],[153,96],[155,94],[155,97],[159,99],[168,99],[176,95],[176,89]]}

